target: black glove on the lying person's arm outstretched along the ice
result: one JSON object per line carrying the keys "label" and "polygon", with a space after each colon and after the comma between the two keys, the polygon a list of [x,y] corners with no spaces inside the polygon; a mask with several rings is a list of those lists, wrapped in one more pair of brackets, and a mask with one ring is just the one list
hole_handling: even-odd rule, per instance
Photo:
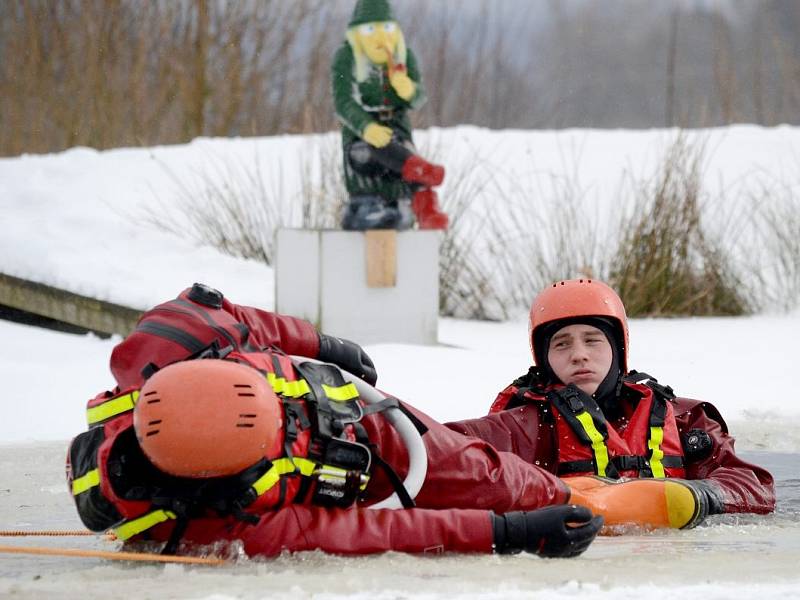
{"label": "black glove on the lying person's arm outstretched along the ice", "polygon": [[[570,526],[570,525],[575,525]],[[492,514],[494,547],[498,554],[521,550],[547,558],[578,556],[600,531],[603,517],[592,517],[583,506],[563,504],[530,512]]]}

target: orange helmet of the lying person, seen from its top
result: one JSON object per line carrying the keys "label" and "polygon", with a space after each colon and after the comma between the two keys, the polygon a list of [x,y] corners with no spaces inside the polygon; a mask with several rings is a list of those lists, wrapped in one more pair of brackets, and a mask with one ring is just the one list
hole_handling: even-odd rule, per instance
{"label": "orange helmet of the lying person, seen from its top", "polygon": [[156,372],[133,411],[147,458],[178,477],[235,475],[281,444],[281,402],[257,370],[190,360]]}

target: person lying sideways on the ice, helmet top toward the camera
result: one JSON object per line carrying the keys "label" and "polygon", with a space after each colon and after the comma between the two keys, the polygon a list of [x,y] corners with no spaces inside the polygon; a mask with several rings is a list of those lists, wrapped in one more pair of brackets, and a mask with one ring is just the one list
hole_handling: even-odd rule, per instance
{"label": "person lying sideways on the ice, helmet top toward the camera", "polygon": [[93,531],[167,553],[240,540],[251,556],[574,556],[602,526],[552,474],[377,392],[356,344],[201,284],[147,311],[111,371],[118,387],[89,402],[68,453]]}

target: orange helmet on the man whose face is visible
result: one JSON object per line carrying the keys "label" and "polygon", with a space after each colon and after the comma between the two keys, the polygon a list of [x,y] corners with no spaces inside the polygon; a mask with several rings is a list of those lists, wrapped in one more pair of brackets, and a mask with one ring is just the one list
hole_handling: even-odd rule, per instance
{"label": "orange helmet on the man whose face is visible", "polygon": [[568,279],[545,288],[531,304],[528,325],[528,341],[533,362],[546,364],[547,348],[541,335],[542,326],[555,321],[581,317],[600,317],[610,321],[617,329],[620,367],[628,372],[628,318],[625,306],[617,293],[602,281],[592,279]]}

